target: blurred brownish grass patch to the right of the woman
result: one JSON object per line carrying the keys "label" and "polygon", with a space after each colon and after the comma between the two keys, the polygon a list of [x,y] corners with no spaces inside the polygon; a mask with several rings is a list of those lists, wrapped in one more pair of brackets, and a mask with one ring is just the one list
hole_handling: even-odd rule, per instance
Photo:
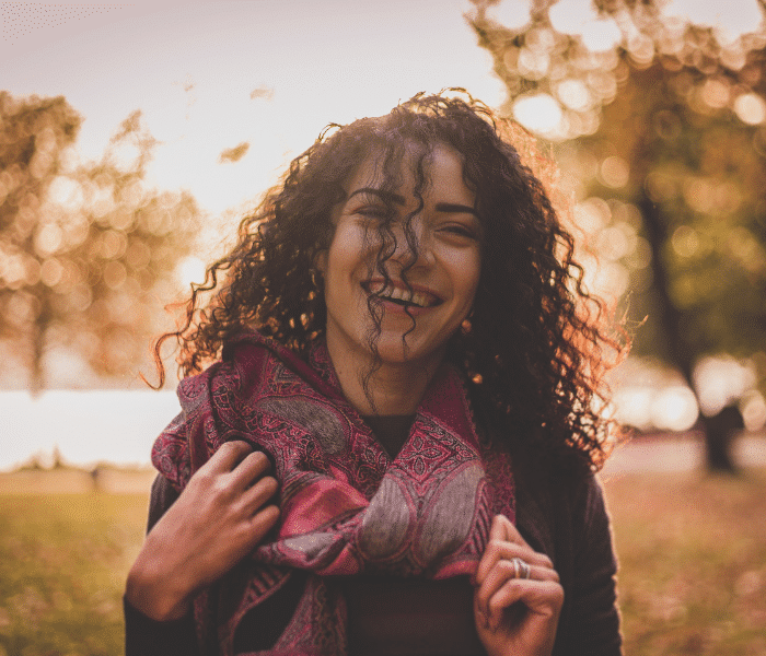
{"label": "blurred brownish grass patch to the right of the woman", "polygon": [[628,656],[766,656],[766,470],[605,484]]}

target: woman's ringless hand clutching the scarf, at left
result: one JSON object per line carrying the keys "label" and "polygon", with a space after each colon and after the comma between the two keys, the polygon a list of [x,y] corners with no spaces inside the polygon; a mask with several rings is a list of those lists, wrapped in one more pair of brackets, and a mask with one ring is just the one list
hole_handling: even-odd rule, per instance
{"label": "woman's ringless hand clutching the scarf, at left", "polygon": [[195,475],[151,529],[130,569],[125,596],[154,620],[188,612],[195,594],[220,578],[276,524],[266,505],[277,481],[265,454],[227,442]]}

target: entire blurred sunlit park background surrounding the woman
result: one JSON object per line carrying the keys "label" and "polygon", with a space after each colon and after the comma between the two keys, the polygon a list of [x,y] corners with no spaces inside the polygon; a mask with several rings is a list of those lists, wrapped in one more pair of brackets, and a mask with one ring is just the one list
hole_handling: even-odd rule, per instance
{"label": "entire blurred sunlit park background surrounding the woman", "polygon": [[601,409],[635,435],[600,476],[626,654],[766,656],[765,7],[0,2],[0,656],[124,653],[164,306],[325,125],[446,86],[539,138],[634,338]]}

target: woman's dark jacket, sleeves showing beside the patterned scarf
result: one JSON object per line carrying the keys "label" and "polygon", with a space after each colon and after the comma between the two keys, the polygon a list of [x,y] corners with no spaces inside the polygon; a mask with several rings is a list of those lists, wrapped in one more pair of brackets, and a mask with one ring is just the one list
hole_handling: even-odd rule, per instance
{"label": "woman's dark jacket, sleeves showing beside the patterned scarf", "polygon": [[[527,477],[529,478],[529,477]],[[544,490],[544,491],[543,491]],[[166,479],[152,487],[149,528],[177,497]],[[593,476],[569,477],[557,484],[517,482],[517,527],[536,551],[554,562],[565,590],[556,634],[555,656],[617,656],[622,654],[616,607],[616,561],[610,519],[601,485]],[[298,600],[299,590],[292,591]],[[269,609],[274,633],[289,620],[290,590]],[[281,608],[280,608],[281,605]],[[262,635],[268,644],[269,635]],[[276,640],[276,635],[274,636]],[[126,605],[126,656],[194,656],[197,652],[190,616],[175,622],[154,622]]]}

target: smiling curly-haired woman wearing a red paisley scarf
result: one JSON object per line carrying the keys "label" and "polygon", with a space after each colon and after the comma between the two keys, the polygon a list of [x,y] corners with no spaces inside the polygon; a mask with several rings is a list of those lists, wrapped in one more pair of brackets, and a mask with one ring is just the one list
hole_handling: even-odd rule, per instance
{"label": "smiling curly-haired woman wearing a red paisley scarf", "polygon": [[195,286],[128,656],[620,652],[620,347],[508,128],[444,95],[329,128]]}

